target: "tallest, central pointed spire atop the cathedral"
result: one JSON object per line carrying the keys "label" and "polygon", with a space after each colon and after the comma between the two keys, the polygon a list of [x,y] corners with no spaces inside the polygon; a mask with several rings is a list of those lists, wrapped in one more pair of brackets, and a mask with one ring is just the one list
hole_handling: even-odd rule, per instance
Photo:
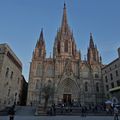
{"label": "tallest, central pointed spire atop the cathedral", "polygon": [[67,22],[67,12],[66,12],[66,4],[64,3],[64,8],[63,8],[63,17],[62,17],[62,25],[61,25],[61,30],[62,32],[67,32],[69,31],[69,26]]}

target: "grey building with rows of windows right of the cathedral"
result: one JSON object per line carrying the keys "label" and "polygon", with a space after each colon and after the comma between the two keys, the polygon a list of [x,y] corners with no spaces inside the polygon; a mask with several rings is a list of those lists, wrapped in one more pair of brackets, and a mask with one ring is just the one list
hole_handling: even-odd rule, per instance
{"label": "grey building with rows of windows right of the cathedral", "polygon": [[120,103],[120,48],[118,48],[118,58],[106,65],[102,69],[104,90],[106,100],[113,103]]}

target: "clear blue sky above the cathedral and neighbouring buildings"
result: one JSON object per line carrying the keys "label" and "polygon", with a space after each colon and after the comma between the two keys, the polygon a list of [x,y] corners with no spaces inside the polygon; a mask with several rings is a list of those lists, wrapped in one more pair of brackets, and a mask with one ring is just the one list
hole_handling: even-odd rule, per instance
{"label": "clear blue sky above the cathedral and neighbouring buildings", "polygon": [[68,23],[82,58],[87,54],[90,32],[104,64],[118,57],[120,0],[0,0],[0,43],[8,43],[22,61],[27,81],[29,63],[41,28],[44,30],[47,56],[53,50],[64,1]]}

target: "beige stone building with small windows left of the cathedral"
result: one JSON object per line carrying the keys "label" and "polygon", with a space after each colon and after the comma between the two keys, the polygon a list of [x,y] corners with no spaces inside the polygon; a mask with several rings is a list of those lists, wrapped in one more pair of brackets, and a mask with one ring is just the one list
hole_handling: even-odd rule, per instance
{"label": "beige stone building with small windows left of the cathedral", "polygon": [[7,44],[0,44],[0,106],[20,102],[22,63]]}

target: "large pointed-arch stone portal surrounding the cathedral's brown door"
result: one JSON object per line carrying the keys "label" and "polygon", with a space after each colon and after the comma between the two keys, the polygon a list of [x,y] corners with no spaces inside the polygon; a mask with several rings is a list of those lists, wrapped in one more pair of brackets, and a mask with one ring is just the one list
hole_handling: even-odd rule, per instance
{"label": "large pointed-arch stone portal surrounding the cathedral's brown door", "polygon": [[64,79],[58,85],[58,101],[70,105],[72,101],[78,99],[79,88],[76,82],[70,78]]}

